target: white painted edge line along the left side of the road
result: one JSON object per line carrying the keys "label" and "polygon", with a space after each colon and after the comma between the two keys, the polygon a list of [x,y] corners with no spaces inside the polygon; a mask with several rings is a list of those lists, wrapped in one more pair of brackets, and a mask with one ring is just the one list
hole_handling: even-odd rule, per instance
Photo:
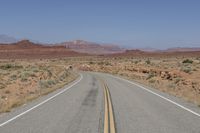
{"label": "white painted edge line along the left side of the road", "polygon": [[58,95],[64,93],[65,91],[67,91],[68,89],[70,89],[71,87],[73,87],[74,85],[76,85],[77,83],[79,83],[79,82],[82,80],[82,78],[83,78],[82,74],[80,74],[80,76],[81,76],[80,79],[79,79],[78,81],[76,81],[75,83],[73,83],[72,85],[70,85],[70,86],[68,86],[67,88],[63,89],[62,91],[56,93],[56,94],[53,95],[52,97],[50,97],[50,98],[44,100],[43,102],[41,102],[41,103],[39,103],[39,104],[33,106],[32,108],[30,108],[30,109],[24,111],[23,113],[18,114],[18,115],[16,115],[16,116],[14,116],[13,118],[11,118],[11,119],[9,119],[9,120],[7,120],[7,121],[1,123],[1,124],[0,124],[0,127],[3,127],[4,125],[6,125],[6,124],[8,124],[8,123],[10,123],[10,122],[12,122],[12,121],[14,121],[14,120],[16,120],[17,118],[21,117],[22,115],[25,115],[25,114],[27,114],[28,112],[34,110],[35,108],[37,108],[37,107],[39,107],[39,106],[41,106],[41,105],[47,103],[48,101],[50,101],[51,99],[55,98],[56,96],[58,96]]}

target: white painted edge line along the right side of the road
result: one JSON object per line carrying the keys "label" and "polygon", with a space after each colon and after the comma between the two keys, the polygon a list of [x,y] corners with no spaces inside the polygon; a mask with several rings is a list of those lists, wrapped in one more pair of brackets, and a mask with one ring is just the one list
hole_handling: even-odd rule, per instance
{"label": "white painted edge line along the right side of the road", "polygon": [[180,107],[180,108],[182,108],[182,109],[184,109],[184,110],[186,110],[186,111],[188,111],[188,112],[190,112],[190,113],[192,113],[192,114],[194,114],[194,115],[196,115],[196,116],[198,116],[198,117],[200,117],[200,114],[198,114],[197,112],[194,112],[194,111],[192,111],[191,109],[186,108],[186,107],[184,107],[183,105],[180,105],[180,104],[178,104],[178,103],[176,103],[176,102],[174,102],[174,101],[172,101],[172,100],[170,100],[170,99],[168,99],[168,98],[166,98],[166,97],[164,97],[164,96],[162,96],[162,95],[159,95],[158,93],[155,93],[155,92],[153,92],[153,91],[151,91],[151,90],[149,90],[149,89],[147,89],[147,88],[145,88],[145,87],[143,87],[143,86],[141,86],[141,85],[139,85],[139,84],[136,84],[136,83],[131,82],[131,81],[129,81],[129,80],[126,80],[126,79],[123,79],[123,78],[120,78],[120,77],[116,77],[116,76],[113,76],[113,75],[110,75],[110,76],[112,76],[112,77],[114,77],[114,78],[117,78],[117,79],[120,79],[120,80],[124,80],[124,81],[126,81],[126,82],[128,82],[128,83],[130,83],[130,84],[135,85],[135,86],[138,86],[138,87],[140,87],[141,89],[143,89],[143,90],[145,90],[145,91],[148,91],[148,92],[150,92],[150,93],[152,93],[152,94],[154,94],[154,95],[156,95],[156,96],[158,96],[158,97],[160,97],[160,98],[162,98],[162,99],[164,99],[164,100],[166,100],[166,101],[168,101],[168,102],[170,102],[170,103],[172,103],[172,104],[174,104],[174,105],[176,105],[176,106],[178,106],[178,107]]}

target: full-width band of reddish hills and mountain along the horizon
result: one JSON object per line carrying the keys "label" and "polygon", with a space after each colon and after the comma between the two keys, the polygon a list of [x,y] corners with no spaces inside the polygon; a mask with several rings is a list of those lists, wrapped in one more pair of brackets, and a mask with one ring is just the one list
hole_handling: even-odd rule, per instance
{"label": "full-width band of reddish hills and mountain along the horizon", "polygon": [[[85,41],[68,42],[60,45],[41,45],[28,40],[13,44],[0,44],[0,59],[63,58],[72,56],[99,55],[105,57],[170,58],[200,57],[200,51],[157,51],[123,50],[116,46],[89,44]],[[85,52],[85,53],[84,53]]]}

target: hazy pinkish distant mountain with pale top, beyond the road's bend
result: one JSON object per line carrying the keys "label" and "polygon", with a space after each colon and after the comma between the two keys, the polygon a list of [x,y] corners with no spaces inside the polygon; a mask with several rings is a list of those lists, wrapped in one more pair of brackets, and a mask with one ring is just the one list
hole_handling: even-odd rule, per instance
{"label": "hazy pinkish distant mountain with pale top, beyond the road's bend", "polygon": [[124,52],[124,49],[117,45],[111,44],[98,44],[94,42],[88,42],[84,40],[75,40],[63,42],[60,45],[64,45],[66,48],[80,53],[88,54],[113,54]]}

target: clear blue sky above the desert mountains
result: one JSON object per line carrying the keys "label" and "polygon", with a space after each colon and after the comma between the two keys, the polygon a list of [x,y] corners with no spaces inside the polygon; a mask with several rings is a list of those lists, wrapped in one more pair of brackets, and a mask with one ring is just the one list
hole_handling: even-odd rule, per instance
{"label": "clear blue sky above the desert mountains", "polygon": [[0,34],[44,43],[200,47],[200,1],[0,0]]}

